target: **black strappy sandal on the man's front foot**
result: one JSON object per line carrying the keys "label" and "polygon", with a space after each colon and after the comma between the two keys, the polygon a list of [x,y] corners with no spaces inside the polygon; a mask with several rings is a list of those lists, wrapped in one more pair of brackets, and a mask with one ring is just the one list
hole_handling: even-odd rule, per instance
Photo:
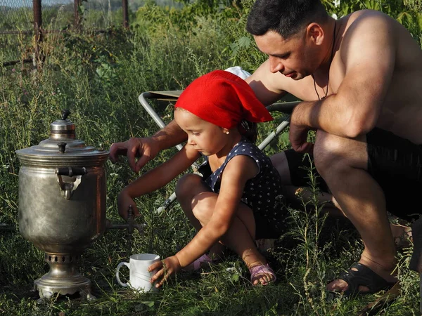
{"label": "black strappy sandal on the man's front foot", "polygon": [[[352,270],[352,269],[356,270]],[[343,294],[347,297],[358,294],[374,294],[381,290],[391,289],[397,282],[388,282],[362,263],[353,263],[350,268],[341,272],[338,279],[343,279],[348,285]],[[368,291],[359,291],[359,286],[367,287]]]}

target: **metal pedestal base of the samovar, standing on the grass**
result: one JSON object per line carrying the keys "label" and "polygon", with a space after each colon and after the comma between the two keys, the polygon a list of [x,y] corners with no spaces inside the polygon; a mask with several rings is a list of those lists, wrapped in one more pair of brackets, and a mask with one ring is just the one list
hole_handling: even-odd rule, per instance
{"label": "metal pedestal base of the samovar, standing on the grass", "polygon": [[46,253],[45,258],[50,271],[34,282],[34,290],[41,299],[77,292],[89,301],[95,299],[91,294],[91,281],[76,270],[79,255]]}

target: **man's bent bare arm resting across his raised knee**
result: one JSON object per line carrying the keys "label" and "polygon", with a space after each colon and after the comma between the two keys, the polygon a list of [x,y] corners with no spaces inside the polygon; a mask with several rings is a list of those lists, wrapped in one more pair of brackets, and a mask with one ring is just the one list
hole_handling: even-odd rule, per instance
{"label": "man's bent bare arm resting across his raised knee", "polygon": [[[391,22],[384,15],[366,13],[357,18],[340,47],[344,77],[337,93],[324,100],[300,103],[293,111],[290,127],[307,126],[347,138],[371,131],[392,79],[395,41]],[[293,143],[295,138],[290,136]]]}

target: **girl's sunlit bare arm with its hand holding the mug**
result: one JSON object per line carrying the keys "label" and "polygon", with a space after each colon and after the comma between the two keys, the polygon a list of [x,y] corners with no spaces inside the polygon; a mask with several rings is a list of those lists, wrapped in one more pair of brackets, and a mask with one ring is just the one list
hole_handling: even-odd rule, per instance
{"label": "girl's sunlit bare arm with its hand holding the mug", "polygon": [[191,242],[175,256],[164,260],[165,269],[162,268],[161,262],[150,266],[151,271],[161,268],[151,278],[152,282],[162,278],[157,287],[160,287],[174,272],[186,267],[205,254],[213,244],[222,238],[229,230],[231,221],[238,210],[246,181],[255,177],[257,173],[258,166],[251,157],[238,155],[230,160],[222,174],[220,192],[212,217],[207,225],[203,226]]}

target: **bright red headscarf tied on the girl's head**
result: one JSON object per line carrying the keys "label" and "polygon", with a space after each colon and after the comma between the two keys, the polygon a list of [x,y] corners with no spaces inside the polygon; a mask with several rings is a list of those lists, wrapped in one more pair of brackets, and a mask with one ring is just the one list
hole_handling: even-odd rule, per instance
{"label": "bright red headscarf tied on the girl's head", "polygon": [[243,119],[256,123],[273,119],[246,81],[224,70],[214,70],[195,79],[174,107],[225,129],[238,126]]}

